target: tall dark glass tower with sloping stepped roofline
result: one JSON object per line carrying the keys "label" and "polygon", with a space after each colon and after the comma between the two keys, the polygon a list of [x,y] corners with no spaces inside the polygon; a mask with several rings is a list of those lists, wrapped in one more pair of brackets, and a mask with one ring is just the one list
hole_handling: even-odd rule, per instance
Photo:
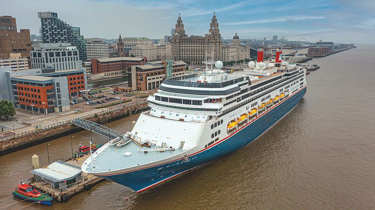
{"label": "tall dark glass tower with sloping stepped roofline", "polygon": [[86,41],[78,27],[71,27],[54,12],[38,12],[41,21],[40,33],[43,43],[71,43],[79,51],[79,59],[86,60]]}

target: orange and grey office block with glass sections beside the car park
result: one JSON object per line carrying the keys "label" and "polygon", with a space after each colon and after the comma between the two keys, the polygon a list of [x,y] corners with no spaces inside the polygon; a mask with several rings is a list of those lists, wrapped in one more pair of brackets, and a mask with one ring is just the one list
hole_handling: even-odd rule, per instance
{"label": "orange and grey office block with glass sections beside the car park", "polygon": [[0,99],[10,100],[15,107],[34,112],[62,112],[70,109],[69,97],[87,87],[84,68],[55,71],[29,69],[11,71],[0,67]]}

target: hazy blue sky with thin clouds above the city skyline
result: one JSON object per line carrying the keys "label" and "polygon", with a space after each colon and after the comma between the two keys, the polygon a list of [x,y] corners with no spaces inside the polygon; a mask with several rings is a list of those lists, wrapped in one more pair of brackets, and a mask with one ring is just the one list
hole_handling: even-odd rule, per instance
{"label": "hazy blue sky with thin clouds above the city skyline", "polygon": [[38,12],[56,12],[64,22],[80,27],[85,38],[114,39],[170,36],[178,14],[185,33],[208,33],[213,12],[224,39],[307,39],[336,43],[375,42],[374,0],[12,0],[1,3],[0,16],[13,16],[17,28],[39,34]]}

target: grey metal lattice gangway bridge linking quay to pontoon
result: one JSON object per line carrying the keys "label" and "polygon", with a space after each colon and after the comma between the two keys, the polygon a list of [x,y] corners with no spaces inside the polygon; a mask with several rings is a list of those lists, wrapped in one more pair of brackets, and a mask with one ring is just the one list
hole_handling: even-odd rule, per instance
{"label": "grey metal lattice gangway bridge linking quay to pontoon", "polygon": [[121,133],[110,129],[109,127],[85,119],[74,119],[71,124],[92,131],[94,133],[98,133],[110,139],[114,139],[121,135]]}

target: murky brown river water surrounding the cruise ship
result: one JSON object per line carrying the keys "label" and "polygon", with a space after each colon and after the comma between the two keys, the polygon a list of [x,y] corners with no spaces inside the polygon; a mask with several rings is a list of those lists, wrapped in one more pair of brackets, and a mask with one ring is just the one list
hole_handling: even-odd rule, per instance
{"label": "murky brown river water surrounding the cruise ship", "polygon": [[[139,194],[103,181],[52,207],[375,208],[375,45],[357,47],[310,61],[320,69],[307,76],[304,99],[244,149]],[[111,122],[111,128],[128,131],[137,117]],[[88,131],[72,135],[74,148],[87,144]],[[51,161],[71,155],[69,136],[49,144]],[[31,176],[33,154],[41,165],[48,163],[46,143],[0,157],[0,206],[19,201],[11,192],[19,177]]]}

